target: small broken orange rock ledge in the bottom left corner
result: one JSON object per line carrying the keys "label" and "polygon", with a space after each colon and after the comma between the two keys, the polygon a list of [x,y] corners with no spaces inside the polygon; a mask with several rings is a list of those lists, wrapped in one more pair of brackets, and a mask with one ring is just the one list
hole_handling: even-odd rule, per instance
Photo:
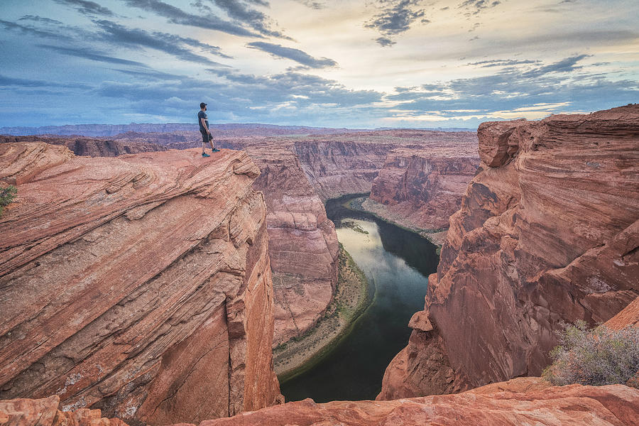
{"label": "small broken orange rock ledge in the bottom left corner", "polygon": [[0,425],[6,426],[127,426],[119,419],[102,417],[100,410],[80,408],[60,411],[60,397],[39,400],[0,400]]}

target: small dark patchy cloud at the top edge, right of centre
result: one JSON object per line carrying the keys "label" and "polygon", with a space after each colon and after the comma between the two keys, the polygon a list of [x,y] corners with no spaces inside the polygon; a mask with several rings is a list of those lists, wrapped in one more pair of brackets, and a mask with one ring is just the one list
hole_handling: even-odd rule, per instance
{"label": "small dark patchy cloud at the top edge, right of centre", "polygon": [[387,5],[376,16],[368,21],[364,26],[379,31],[385,37],[378,38],[376,41],[382,46],[389,46],[392,35],[403,33],[410,29],[410,26],[421,19],[423,23],[429,23],[425,18],[425,10],[419,9],[417,4],[419,0],[379,0],[381,4]]}

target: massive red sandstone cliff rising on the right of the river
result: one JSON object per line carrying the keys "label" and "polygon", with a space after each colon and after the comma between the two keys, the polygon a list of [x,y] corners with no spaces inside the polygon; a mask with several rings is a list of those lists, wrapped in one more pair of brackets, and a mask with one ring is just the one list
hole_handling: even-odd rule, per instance
{"label": "massive red sandstone cliff rising on the right of the river", "polygon": [[380,398],[538,375],[560,322],[604,322],[637,297],[638,135],[639,105],[479,127],[480,171]]}

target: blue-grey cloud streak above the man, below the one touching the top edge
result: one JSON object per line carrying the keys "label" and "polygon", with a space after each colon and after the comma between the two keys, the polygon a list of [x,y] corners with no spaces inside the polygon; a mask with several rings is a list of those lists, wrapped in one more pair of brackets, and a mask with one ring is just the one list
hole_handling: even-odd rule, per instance
{"label": "blue-grey cloud streak above the man, below the one touching the top edge", "polygon": [[102,33],[100,34],[102,39],[119,46],[126,45],[129,48],[151,48],[173,55],[180,60],[199,62],[206,65],[219,65],[219,63],[202,55],[196,55],[192,53],[191,50],[182,47],[182,45],[205,48],[209,53],[229,58],[229,56],[222,54],[217,46],[208,45],[193,38],[160,33],[159,31],[149,33],[138,28],[127,28],[113,21],[101,20],[94,21],[94,23],[102,29]]}

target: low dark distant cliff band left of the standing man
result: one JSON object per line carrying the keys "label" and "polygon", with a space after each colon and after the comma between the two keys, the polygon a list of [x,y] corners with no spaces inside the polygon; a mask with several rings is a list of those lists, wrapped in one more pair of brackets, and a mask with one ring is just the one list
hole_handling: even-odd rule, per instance
{"label": "low dark distant cliff band left of the standing man", "polygon": [[110,141],[96,138],[62,138],[56,136],[0,136],[0,143],[45,142],[69,148],[75,155],[89,157],[117,157],[124,154],[166,151],[167,148],[158,143],[142,141]]}

